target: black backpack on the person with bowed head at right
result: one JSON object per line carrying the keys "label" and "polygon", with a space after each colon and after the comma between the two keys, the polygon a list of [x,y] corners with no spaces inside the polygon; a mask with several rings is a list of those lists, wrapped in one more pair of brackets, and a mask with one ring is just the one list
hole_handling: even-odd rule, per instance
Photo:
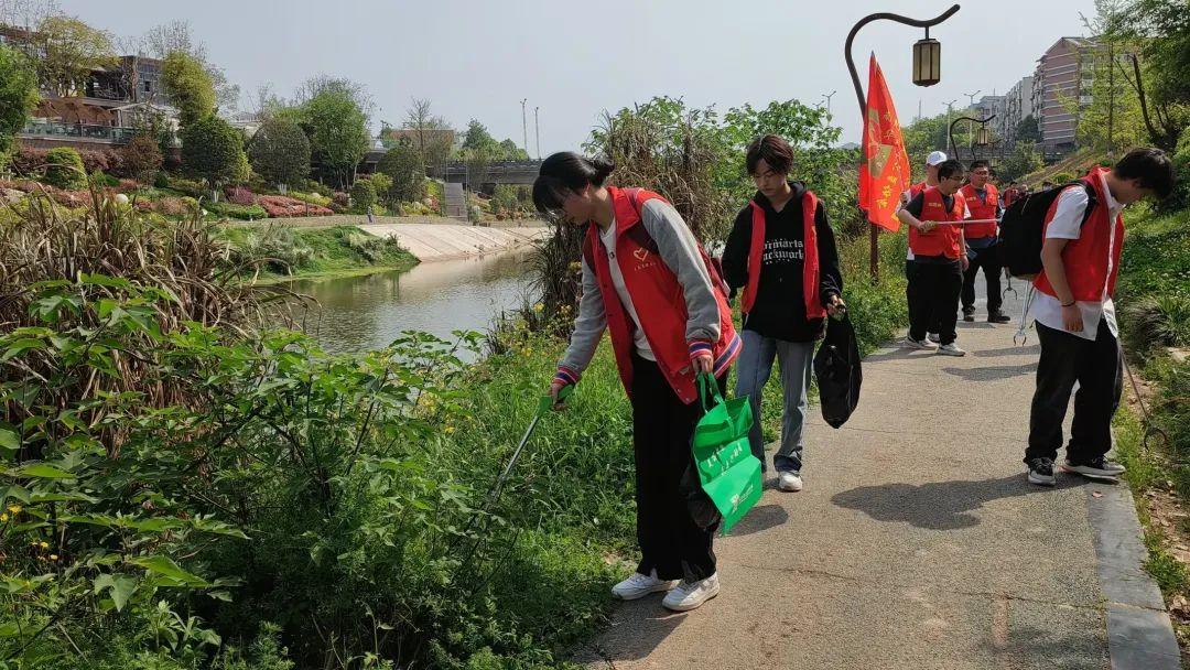
{"label": "black backpack on the person with bowed head at right", "polygon": [[1014,277],[1033,278],[1041,274],[1041,244],[1045,242],[1045,219],[1063,190],[1077,186],[1086,190],[1086,212],[1083,224],[1095,209],[1095,189],[1079,180],[1056,186],[1038,193],[1031,193],[1013,202],[1000,220],[1001,264]]}

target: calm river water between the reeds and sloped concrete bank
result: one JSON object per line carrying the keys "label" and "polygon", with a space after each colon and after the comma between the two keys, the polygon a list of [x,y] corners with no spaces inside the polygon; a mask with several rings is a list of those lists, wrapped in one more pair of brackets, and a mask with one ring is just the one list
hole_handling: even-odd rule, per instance
{"label": "calm river water between the reeds and sloped concrete bank", "polygon": [[509,251],[421,263],[403,273],[377,273],[288,284],[318,301],[299,325],[330,352],[383,349],[402,331],[451,339],[451,331],[486,331],[503,309],[530,294],[530,252]]}

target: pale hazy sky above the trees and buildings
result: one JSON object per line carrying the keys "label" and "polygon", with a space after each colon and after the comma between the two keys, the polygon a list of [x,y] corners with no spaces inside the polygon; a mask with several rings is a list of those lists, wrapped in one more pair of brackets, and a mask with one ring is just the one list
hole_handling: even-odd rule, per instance
{"label": "pale hazy sky above the trees and buildings", "polygon": [[[858,140],[859,109],[843,57],[851,26],[872,12],[925,19],[950,2],[885,0],[61,0],[63,11],[118,35],[190,21],[209,57],[245,99],[265,82],[289,96],[314,74],[359,81],[376,101],[374,126],[399,124],[411,98],[430,98],[456,127],[471,118],[520,144],[527,98],[540,107],[541,154],[576,149],[603,109],[653,95],[720,111],[796,98],[831,108],[843,142]],[[926,115],[964,93],[1003,94],[1033,73],[1061,36],[1084,35],[1092,0],[965,2],[932,30],[942,43],[942,81],[910,81],[920,29],[890,21],[856,39],[860,81],[876,51],[902,123],[919,100]],[[977,96],[978,99],[978,96]]]}

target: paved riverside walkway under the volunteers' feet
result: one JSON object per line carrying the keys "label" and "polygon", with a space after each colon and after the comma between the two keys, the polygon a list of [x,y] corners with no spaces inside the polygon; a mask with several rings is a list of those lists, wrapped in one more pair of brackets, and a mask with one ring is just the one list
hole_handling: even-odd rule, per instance
{"label": "paved riverside walkway under the volunteers' feet", "polygon": [[[1019,315],[1020,302],[1006,311]],[[578,659],[616,669],[1178,668],[1160,594],[1140,572],[1127,488],[1025,481],[1035,336],[1020,347],[1016,324],[959,326],[964,358],[896,346],[870,356],[844,428],[812,407],[806,490],[775,490],[769,475],[762,501],[716,543],[718,599],[684,615],[666,613],[659,596],[624,603]]]}

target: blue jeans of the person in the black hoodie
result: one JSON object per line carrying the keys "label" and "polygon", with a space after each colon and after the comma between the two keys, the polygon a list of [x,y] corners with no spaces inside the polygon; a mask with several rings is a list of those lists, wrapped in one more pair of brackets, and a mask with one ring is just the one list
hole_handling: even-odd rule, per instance
{"label": "blue jeans of the person in the black hoodie", "polygon": [[814,362],[814,342],[784,342],[764,337],[754,331],[743,333],[744,351],[735,365],[735,396],[749,396],[752,403],[752,432],[749,443],[752,455],[764,465],[764,436],[760,431],[760,394],[772,372],[772,361],[781,362],[781,386],[785,396],[785,409],[781,418],[781,447],[772,457],[778,471],[800,472],[802,469],[802,433],[809,401],[806,392],[810,388]]}

